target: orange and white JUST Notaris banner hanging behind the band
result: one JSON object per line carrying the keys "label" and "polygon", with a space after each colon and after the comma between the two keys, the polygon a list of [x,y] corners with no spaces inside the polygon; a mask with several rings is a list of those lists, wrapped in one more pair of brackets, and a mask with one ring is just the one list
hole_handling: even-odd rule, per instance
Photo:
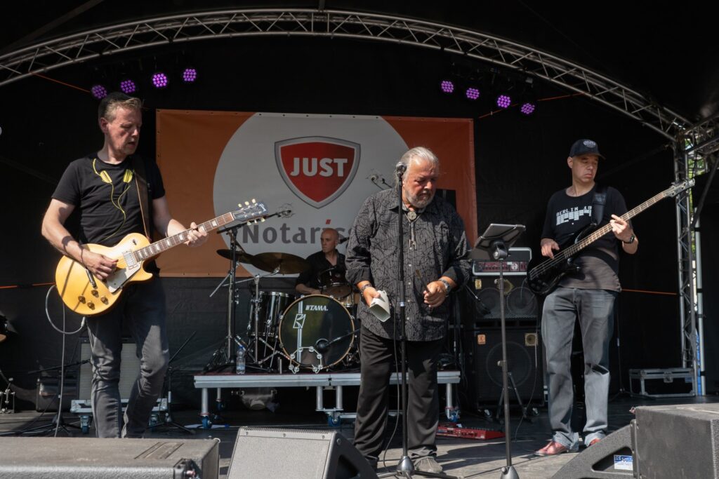
{"label": "orange and white JUST Notaris banner hanging behind the band", "polygon": [[[366,197],[394,184],[394,168],[412,147],[441,162],[438,187],[454,190],[470,241],[477,237],[472,120],[393,116],[223,111],[157,111],[157,164],[173,217],[201,223],[255,198],[289,218],[240,228],[249,254],[306,257],[319,251],[323,228],[346,236]],[[224,276],[216,250],[226,234],[200,248],[173,248],[157,260],[163,276]],[[344,252],[344,246],[339,246]],[[246,266],[246,265],[243,265]],[[255,274],[247,266],[237,274]]]}

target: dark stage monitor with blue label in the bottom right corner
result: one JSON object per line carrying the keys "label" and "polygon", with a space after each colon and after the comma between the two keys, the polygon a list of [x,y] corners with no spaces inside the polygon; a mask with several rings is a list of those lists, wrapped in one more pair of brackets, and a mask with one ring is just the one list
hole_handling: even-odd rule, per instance
{"label": "dark stage monitor with blue label in the bottom right corner", "polygon": [[574,457],[557,479],[719,478],[719,404],[640,406],[630,425]]}

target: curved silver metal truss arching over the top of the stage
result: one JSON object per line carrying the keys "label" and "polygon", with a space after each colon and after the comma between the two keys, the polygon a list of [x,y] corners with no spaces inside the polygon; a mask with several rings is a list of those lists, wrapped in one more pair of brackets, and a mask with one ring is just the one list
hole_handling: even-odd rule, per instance
{"label": "curved silver metal truss arching over the top of the stage", "polygon": [[521,71],[582,93],[672,141],[689,125],[686,118],[628,86],[533,47],[436,22],[324,9],[205,11],[91,29],[1,55],[0,86],[121,52],[202,39],[261,35],[372,39],[443,50]]}

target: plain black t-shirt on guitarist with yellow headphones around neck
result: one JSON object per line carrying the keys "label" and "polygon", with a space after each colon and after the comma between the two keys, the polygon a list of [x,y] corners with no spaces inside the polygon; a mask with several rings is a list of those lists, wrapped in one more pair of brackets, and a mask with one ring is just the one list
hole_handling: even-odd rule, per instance
{"label": "plain black t-shirt on guitarist with yellow headphones around neck", "polygon": [[[165,196],[165,187],[157,164],[142,162],[151,203]],[[134,175],[132,157],[109,164],[93,154],[68,165],[52,197],[74,205],[80,214],[78,241],[114,246],[129,233],[145,234]]]}

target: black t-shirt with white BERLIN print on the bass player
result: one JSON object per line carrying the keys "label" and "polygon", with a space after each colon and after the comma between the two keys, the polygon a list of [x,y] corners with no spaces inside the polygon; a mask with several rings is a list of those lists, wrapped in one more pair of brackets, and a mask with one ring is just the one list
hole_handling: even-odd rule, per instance
{"label": "black t-shirt with white BERLIN print on the bass player", "polygon": [[[577,197],[567,195],[566,189],[551,195],[546,207],[541,237],[557,241],[560,248],[570,246],[574,235],[592,223],[592,200],[595,189],[596,185],[590,192]],[[608,187],[607,203],[599,227],[609,223],[612,215],[621,216],[626,212],[624,197],[613,187]],[[580,271],[577,274],[564,276],[559,286],[620,291],[619,241],[614,233],[605,234],[580,251],[574,259],[574,264],[580,266]]]}

